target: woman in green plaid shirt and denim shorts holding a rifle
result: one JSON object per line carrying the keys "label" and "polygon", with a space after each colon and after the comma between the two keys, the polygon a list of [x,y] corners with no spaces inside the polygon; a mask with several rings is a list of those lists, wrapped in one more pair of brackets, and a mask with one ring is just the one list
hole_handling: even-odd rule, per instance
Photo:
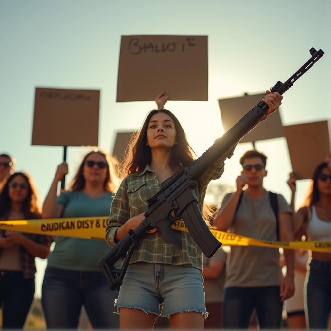
{"label": "woman in green plaid shirt and denim shorts holding a rifle", "polygon": [[[278,93],[264,101],[268,114],[281,104]],[[158,110],[148,113],[142,129],[133,137],[122,164],[127,176],[111,205],[106,241],[114,246],[144,219],[147,200],[161,189],[161,183],[190,165],[193,150],[178,119],[163,109],[167,97],[161,93]],[[200,212],[207,185],[221,177],[226,157],[222,156],[199,180],[195,189]],[[116,303],[120,328],[152,329],[158,316],[169,318],[173,329],[203,329],[205,310],[202,252],[187,232],[176,232],[181,247],[166,244],[156,229],[140,240],[120,288]],[[160,305],[162,309],[160,310]]]}

